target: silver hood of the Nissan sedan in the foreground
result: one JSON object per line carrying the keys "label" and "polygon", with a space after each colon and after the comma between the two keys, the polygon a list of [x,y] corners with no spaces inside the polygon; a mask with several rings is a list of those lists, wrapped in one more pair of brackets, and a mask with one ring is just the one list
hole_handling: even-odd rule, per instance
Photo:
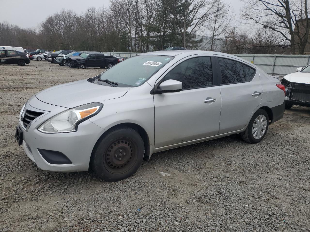
{"label": "silver hood of the Nissan sedan in the foreground", "polygon": [[47,88],[36,94],[43,102],[73,108],[91,102],[122,97],[130,89],[93,84],[87,80],[74,81]]}

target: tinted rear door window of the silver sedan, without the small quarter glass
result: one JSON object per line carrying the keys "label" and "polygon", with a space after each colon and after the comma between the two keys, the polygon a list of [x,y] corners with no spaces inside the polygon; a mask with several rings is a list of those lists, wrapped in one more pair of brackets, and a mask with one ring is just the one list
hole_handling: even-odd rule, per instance
{"label": "tinted rear door window of the silver sedan, without the small quarter glass", "polygon": [[222,76],[222,84],[245,81],[242,63],[224,58],[218,58],[218,60]]}

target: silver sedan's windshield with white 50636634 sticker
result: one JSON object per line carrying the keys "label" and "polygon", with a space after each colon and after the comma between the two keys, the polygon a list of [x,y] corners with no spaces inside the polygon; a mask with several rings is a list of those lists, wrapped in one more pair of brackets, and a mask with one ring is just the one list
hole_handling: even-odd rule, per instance
{"label": "silver sedan's windshield with white 50636634 sticker", "polygon": [[133,56],[117,63],[116,67],[109,68],[99,77],[101,80],[116,82],[120,84],[119,87],[136,87],[142,85],[173,58],[160,55]]}

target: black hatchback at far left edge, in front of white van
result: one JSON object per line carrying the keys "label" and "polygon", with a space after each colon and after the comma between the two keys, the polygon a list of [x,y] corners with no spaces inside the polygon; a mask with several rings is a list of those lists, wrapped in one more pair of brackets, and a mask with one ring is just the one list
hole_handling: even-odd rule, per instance
{"label": "black hatchback at far left edge, in front of white van", "polygon": [[0,64],[18,64],[24,66],[30,63],[28,54],[15,50],[0,50]]}

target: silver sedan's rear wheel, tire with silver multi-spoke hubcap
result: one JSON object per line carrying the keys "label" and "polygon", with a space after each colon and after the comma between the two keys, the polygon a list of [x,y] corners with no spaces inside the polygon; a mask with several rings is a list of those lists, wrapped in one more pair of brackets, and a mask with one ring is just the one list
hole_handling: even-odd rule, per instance
{"label": "silver sedan's rear wheel, tire with silver multi-spoke hubcap", "polygon": [[[259,119],[263,119],[263,123],[260,123]],[[258,122],[258,123],[257,123]],[[255,126],[257,125],[257,126]],[[241,133],[241,138],[246,141],[247,143],[256,144],[259,143],[265,135],[267,134],[269,126],[269,117],[265,110],[259,109],[255,112],[253,117],[251,118],[248,126],[246,127],[246,130]],[[257,129],[255,134],[252,130],[253,128]]]}

